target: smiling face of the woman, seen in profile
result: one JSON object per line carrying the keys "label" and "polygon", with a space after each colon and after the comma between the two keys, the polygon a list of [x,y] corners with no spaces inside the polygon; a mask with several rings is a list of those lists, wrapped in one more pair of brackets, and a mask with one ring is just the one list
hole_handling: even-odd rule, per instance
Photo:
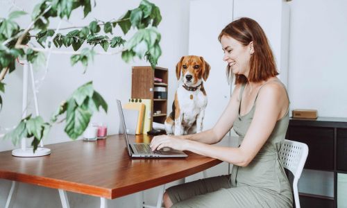
{"label": "smiling face of the woman, seen in profile", "polygon": [[250,69],[251,54],[254,53],[253,42],[248,46],[243,46],[234,38],[223,35],[221,37],[221,47],[224,52],[223,60],[228,62],[232,73],[248,77]]}

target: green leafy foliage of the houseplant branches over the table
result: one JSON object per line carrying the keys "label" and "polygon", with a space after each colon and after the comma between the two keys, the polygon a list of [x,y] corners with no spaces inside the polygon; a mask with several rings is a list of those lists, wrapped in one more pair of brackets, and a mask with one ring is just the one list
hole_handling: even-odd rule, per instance
{"label": "green leafy foliage of the houseplant branches over the table", "polygon": [[[69,19],[71,13],[77,8],[82,8],[84,17],[86,17],[92,10],[92,4],[90,0],[42,0],[31,13],[33,27],[27,30],[20,28],[15,21],[16,18],[26,15],[26,12],[14,11],[8,15],[7,19],[0,18],[0,71],[6,68],[10,73],[14,71],[16,59],[19,57],[24,57],[33,64],[44,63],[44,53],[37,52],[39,51],[37,49],[33,50],[31,48],[33,44],[28,44],[31,36],[35,36],[35,40],[43,48],[51,47],[50,43],[53,37],[53,44],[56,48],[65,46],[78,51],[78,54],[71,55],[71,65],[81,62],[86,68],[88,62],[92,61],[96,54],[94,47],[99,45],[104,51],[108,51],[110,48],[124,47],[121,53],[121,58],[124,61],[129,62],[135,56],[145,57],[151,66],[155,67],[162,53],[159,45],[161,37],[156,29],[162,17],[157,6],[142,0],[137,8],[127,10],[117,20],[101,21],[95,19],[83,28],[74,29],[64,34],[56,33],[55,30],[48,28],[51,18]],[[103,26],[103,31],[101,31],[101,26]],[[136,33],[130,37],[130,40],[126,41],[120,36],[113,35],[115,31],[113,28],[116,26],[121,28],[124,35],[132,28]],[[35,34],[31,35],[30,33],[33,32]],[[22,40],[19,44],[28,44],[28,49],[24,50],[23,46],[16,46],[19,38]],[[84,43],[89,47],[81,49]],[[1,93],[5,92],[4,86],[5,84],[1,80]],[[2,98],[0,96],[0,109],[3,105]],[[15,130],[6,134],[5,137],[12,139],[14,144],[17,144],[19,139],[24,137],[33,138],[32,145],[36,150],[40,141],[48,134],[51,125],[66,121],[65,132],[71,139],[76,139],[84,132],[92,114],[99,111],[100,107],[107,112],[108,105],[103,97],[93,89],[92,82],[86,83],[76,89],[67,101],[60,104],[51,116],[49,123],[44,122],[40,116],[35,118],[28,116],[22,119]],[[64,114],[66,116],[58,121],[58,118]]]}

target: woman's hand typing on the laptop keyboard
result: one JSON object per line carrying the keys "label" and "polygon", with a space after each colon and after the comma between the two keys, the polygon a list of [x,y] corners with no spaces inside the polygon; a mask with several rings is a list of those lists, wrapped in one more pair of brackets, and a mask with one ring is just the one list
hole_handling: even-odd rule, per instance
{"label": "woman's hand typing on the laptop keyboard", "polygon": [[153,137],[150,147],[152,151],[160,150],[164,147],[173,148],[175,150],[186,150],[187,140],[180,139],[174,136],[160,135]]}

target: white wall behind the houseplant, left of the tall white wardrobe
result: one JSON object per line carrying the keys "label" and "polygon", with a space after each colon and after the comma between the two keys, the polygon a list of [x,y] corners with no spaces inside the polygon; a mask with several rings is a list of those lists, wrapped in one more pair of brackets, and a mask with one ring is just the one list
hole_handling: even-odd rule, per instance
{"label": "white wall behind the houseplant, left of the tall white wardrobe", "polygon": [[[6,2],[0,1],[0,16],[7,17],[8,8],[10,6]],[[35,1],[39,2],[39,1]],[[92,1],[94,2],[94,1]],[[112,18],[118,19],[128,9],[133,9],[139,5],[137,1],[97,1],[96,8],[85,20],[81,19],[83,12],[74,11],[71,15],[71,23],[76,26],[87,24],[88,21],[98,18],[104,21]],[[160,1],[153,0],[162,14],[162,22],[158,27],[162,35],[160,46],[162,48],[162,56],[158,62],[158,66],[169,68],[169,95],[173,95],[176,89],[175,67],[181,55],[187,54],[188,45],[188,15],[189,2],[185,0],[179,1]],[[15,3],[24,8],[27,12],[31,12],[35,3],[33,1],[17,0]],[[23,26],[28,25],[29,18],[24,17],[19,19]],[[52,27],[57,26],[58,21],[52,21]],[[62,27],[71,26],[67,22],[62,23]],[[120,31],[120,30],[117,30]],[[115,33],[114,33],[115,34]],[[117,33],[116,33],[117,34]],[[118,33],[122,34],[122,33]],[[97,50],[103,49],[96,47]],[[62,49],[66,50],[66,49]],[[149,65],[145,61],[135,63],[124,63],[120,55],[101,56],[97,55],[94,63],[90,64],[87,72],[83,74],[83,67],[77,64],[71,67],[69,55],[51,55],[49,65],[49,73],[46,79],[42,82],[38,93],[38,102],[40,114],[44,119],[49,119],[51,113],[56,110],[59,103],[67,98],[71,92],[83,85],[89,80],[93,80],[94,88],[98,91],[108,103],[108,114],[104,112],[96,113],[92,121],[103,121],[108,124],[109,134],[118,132],[118,116],[115,98],[126,102],[131,94],[131,67],[135,65]],[[42,71],[36,73],[37,78],[42,76]],[[22,111],[22,67],[6,76],[4,80],[6,85],[6,94],[3,96],[3,109],[0,112],[1,128],[10,128],[16,125],[21,118]],[[173,97],[169,98],[169,103],[172,103]],[[29,101],[30,107],[33,107],[33,100]],[[171,106],[171,105],[169,105]],[[62,141],[70,141],[62,125],[56,125],[50,132],[49,138],[44,141],[45,144],[57,143]],[[0,139],[0,151],[11,150],[14,148],[10,141]],[[52,153],[54,154],[54,153]],[[10,181],[0,180],[0,207],[4,207],[6,198],[10,191]],[[42,196],[42,201],[39,203],[38,198]],[[134,194],[113,200],[110,207],[139,207],[139,199],[141,194]],[[99,199],[83,196],[76,193],[68,193],[71,207],[97,207]],[[19,184],[18,195],[15,200],[14,207],[60,207],[58,191],[43,187],[37,187],[28,184]],[[76,205],[80,204],[80,205]]]}

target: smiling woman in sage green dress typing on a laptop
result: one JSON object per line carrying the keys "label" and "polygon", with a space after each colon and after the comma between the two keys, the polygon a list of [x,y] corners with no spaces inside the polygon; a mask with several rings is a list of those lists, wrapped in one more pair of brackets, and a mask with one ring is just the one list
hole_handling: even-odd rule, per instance
{"label": "smiling woman in sage green dress typing on a laptop", "polygon": [[[219,35],[235,90],[210,130],[154,137],[152,150],[171,147],[234,164],[231,175],[167,189],[166,207],[292,207],[291,189],[278,157],[289,122],[289,98],[276,77],[273,53],[256,21],[232,21]],[[234,128],[239,147],[212,146]]]}

